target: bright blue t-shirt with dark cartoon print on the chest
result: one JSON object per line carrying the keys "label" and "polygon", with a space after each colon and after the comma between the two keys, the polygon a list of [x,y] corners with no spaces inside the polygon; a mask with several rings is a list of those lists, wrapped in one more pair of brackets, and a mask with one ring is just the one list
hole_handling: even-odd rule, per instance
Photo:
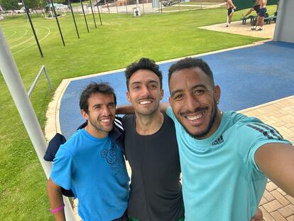
{"label": "bright blue t-shirt with dark cartoon print on the chest", "polygon": [[77,196],[82,220],[114,220],[124,214],[129,176],[119,146],[80,129],[60,146],[50,178]]}

